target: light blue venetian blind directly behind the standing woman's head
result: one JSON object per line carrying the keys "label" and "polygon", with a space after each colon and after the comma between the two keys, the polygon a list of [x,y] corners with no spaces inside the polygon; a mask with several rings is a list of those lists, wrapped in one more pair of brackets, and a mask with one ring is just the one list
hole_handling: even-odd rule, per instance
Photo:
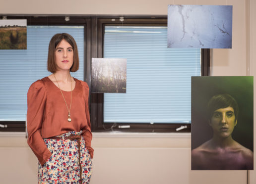
{"label": "light blue venetian blind directly behind the standing woman's head", "polygon": [[26,50],[0,50],[0,121],[25,121],[27,91],[47,71],[48,46],[56,33],[68,33],[76,41],[79,70],[71,75],[83,80],[83,26],[27,26]]}

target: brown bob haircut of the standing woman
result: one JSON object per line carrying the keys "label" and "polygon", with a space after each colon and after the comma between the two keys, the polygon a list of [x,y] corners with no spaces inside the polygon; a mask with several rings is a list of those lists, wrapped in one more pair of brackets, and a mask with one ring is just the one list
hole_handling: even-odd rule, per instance
{"label": "brown bob haircut of the standing woman", "polygon": [[73,48],[74,58],[73,64],[70,68],[70,72],[76,72],[79,68],[78,50],[74,38],[67,33],[58,33],[52,37],[48,49],[47,69],[49,72],[52,73],[57,72],[55,62],[55,49],[61,43],[62,40],[65,40]]}

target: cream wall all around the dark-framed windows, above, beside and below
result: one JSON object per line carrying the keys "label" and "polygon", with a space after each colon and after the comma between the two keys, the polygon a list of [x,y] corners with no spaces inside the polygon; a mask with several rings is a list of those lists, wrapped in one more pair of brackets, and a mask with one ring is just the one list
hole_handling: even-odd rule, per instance
{"label": "cream wall all around the dark-framed windows, above, beside and below", "polygon": [[[0,4],[2,15],[166,15],[168,4],[233,5],[232,49],[212,49],[211,73],[213,76],[256,73],[254,0],[0,0]],[[95,133],[93,136],[91,184],[247,184],[246,171],[191,171],[190,134]],[[0,133],[0,158],[0,183],[36,183],[37,160],[24,134]],[[255,184],[256,173],[249,174],[250,184]]]}

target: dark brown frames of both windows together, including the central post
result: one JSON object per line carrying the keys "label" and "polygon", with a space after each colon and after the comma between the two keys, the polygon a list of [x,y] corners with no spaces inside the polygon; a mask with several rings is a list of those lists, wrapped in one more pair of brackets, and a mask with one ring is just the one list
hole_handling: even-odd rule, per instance
{"label": "dark brown frames of both windows together, including the central post", "polygon": [[[103,57],[105,25],[140,25],[167,26],[167,16],[69,16],[65,21],[64,15],[4,15],[7,19],[27,19],[27,26],[84,26],[84,81],[91,87],[91,58]],[[66,15],[68,16],[68,15]],[[2,18],[2,17],[1,17]],[[115,21],[113,21],[115,19]],[[80,61],[81,62],[81,61]],[[210,75],[210,49],[201,49],[201,76]],[[142,124],[142,123],[103,123],[104,108],[103,93],[89,93],[89,110],[92,132],[122,131],[122,132],[176,132],[176,129],[187,125],[187,129],[179,132],[191,132],[191,124]],[[7,128],[0,128],[0,132],[25,132],[25,121],[0,121]],[[119,125],[129,125],[129,129],[119,129]]]}

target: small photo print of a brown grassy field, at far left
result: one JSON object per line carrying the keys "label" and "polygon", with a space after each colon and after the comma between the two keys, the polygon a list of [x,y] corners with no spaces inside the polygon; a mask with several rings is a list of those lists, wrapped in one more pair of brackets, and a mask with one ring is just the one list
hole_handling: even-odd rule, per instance
{"label": "small photo print of a brown grassy field, at far left", "polygon": [[27,49],[27,20],[0,20],[0,49]]}

